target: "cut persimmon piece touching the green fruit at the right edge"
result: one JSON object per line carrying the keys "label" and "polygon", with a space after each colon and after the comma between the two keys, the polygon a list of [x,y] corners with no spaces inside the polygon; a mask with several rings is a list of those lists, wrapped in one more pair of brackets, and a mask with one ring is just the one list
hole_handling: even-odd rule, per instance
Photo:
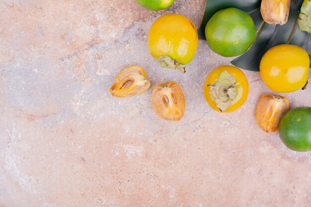
{"label": "cut persimmon piece touching the green fruit at the right edge", "polygon": [[283,96],[267,94],[261,97],[256,109],[256,122],[264,132],[275,132],[290,102]]}

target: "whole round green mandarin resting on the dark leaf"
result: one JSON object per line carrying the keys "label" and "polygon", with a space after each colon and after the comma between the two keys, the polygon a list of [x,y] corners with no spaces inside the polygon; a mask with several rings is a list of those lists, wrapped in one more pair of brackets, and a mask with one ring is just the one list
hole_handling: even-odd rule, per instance
{"label": "whole round green mandarin resting on the dark leaf", "polygon": [[216,12],[205,27],[211,50],[224,57],[245,53],[256,38],[256,27],[250,15],[236,8]]}

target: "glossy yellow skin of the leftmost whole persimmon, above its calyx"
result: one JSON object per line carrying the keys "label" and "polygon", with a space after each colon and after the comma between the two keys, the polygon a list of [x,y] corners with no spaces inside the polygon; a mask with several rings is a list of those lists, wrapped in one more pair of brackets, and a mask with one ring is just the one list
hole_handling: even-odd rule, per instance
{"label": "glossy yellow skin of the leftmost whole persimmon, above its calyx", "polygon": [[169,56],[186,65],[193,59],[197,46],[198,33],[194,24],[179,14],[159,17],[149,31],[148,47],[155,59]]}

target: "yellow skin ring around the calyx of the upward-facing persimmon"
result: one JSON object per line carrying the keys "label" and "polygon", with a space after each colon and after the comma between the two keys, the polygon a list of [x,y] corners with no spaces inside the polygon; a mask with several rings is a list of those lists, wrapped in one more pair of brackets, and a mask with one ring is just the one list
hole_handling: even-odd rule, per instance
{"label": "yellow skin ring around the calyx of the upward-facing persimmon", "polygon": [[205,100],[212,107],[212,109],[221,112],[220,109],[216,106],[215,101],[212,99],[210,95],[210,87],[208,87],[207,85],[214,84],[218,79],[219,75],[225,70],[227,70],[227,72],[229,72],[231,76],[235,77],[236,79],[235,84],[238,85],[236,86],[237,96],[233,99],[233,104],[228,109],[222,111],[222,113],[233,112],[239,107],[241,107],[246,101],[248,94],[248,81],[242,70],[234,66],[220,66],[214,69],[207,76],[203,88]]}

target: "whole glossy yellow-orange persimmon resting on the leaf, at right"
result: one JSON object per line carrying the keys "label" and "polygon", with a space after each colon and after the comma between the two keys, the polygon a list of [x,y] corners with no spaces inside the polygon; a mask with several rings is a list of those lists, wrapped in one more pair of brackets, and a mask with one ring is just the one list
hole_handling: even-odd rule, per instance
{"label": "whole glossy yellow-orange persimmon resting on the leaf, at right", "polygon": [[289,93],[304,87],[309,65],[309,55],[304,49],[295,45],[278,45],[262,57],[260,75],[271,90]]}

